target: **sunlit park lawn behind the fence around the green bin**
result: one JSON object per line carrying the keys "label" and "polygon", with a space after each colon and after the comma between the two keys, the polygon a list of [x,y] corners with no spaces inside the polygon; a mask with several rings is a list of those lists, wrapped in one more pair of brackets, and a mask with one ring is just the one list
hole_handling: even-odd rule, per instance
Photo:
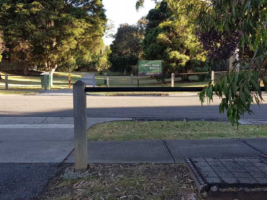
{"label": "sunlit park lawn behind the fence around the green bin", "polygon": [[[69,88],[68,74],[71,74],[71,84],[78,81],[83,76],[79,73],[55,72],[53,75],[54,86],[51,89]],[[0,81],[0,89],[5,88],[5,77],[2,76],[2,78],[3,80]],[[10,76],[8,77],[8,87],[9,89],[17,90],[41,90],[41,80],[39,76]]]}

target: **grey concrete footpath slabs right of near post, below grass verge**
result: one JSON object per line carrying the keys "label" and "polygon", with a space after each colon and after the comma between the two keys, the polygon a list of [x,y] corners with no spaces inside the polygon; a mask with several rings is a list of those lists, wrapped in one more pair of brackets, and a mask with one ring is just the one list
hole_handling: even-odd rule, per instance
{"label": "grey concrete footpath slabs right of near post, below grass verge", "polygon": [[[263,157],[267,138],[88,141],[89,163],[183,163],[184,157]],[[74,163],[74,152],[66,163]]]}

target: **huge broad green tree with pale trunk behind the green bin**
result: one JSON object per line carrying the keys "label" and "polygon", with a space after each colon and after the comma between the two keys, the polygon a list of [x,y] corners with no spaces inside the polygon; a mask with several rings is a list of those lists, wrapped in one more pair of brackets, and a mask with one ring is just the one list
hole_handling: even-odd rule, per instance
{"label": "huge broad green tree with pale trunk behind the green bin", "polygon": [[51,81],[62,60],[71,63],[99,50],[106,22],[101,0],[0,2],[0,26],[11,57],[14,49],[27,47],[23,59],[49,70]]}

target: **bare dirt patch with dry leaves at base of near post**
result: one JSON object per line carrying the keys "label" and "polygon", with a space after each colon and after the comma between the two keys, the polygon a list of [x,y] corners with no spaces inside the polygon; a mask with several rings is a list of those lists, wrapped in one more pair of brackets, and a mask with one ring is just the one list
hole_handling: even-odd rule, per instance
{"label": "bare dirt patch with dry leaves at base of near post", "polygon": [[39,199],[202,199],[180,164],[96,164],[78,173],[66,167]]}

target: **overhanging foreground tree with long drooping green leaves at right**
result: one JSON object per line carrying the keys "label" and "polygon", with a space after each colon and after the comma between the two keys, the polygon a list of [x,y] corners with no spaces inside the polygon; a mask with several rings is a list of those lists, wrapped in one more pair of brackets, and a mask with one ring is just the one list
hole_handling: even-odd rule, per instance
{"label": "overhanging foreground tree with long drooping green leaves at right", "polygon": [[[137,2],[137,8],[144,0]],[[252,103],[260,104],[261,81],[267,90],[267,1],[266,0],[167,0],[177,15],[195,18],[194,23],[204,33],[238,32],[239,61],[235,68],[210,84],[200,93],[201,103],[213,93],[222,98],[220,112],[227,111],[231,123],[237,123],[244,112],[252,113]],[[222,34],[225,35],[225,34]],[[254,93],[252,93],[254,91]]]}

